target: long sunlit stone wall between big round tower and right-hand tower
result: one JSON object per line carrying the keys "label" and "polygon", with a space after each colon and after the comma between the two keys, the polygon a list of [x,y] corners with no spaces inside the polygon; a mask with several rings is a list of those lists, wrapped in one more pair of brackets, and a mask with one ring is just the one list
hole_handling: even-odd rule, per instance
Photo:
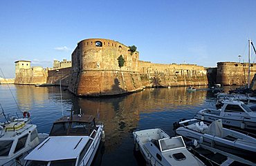
{"label": "long sunlit stone wall between big round tower and right-hand tower", "polygon": [[140,79],[145,87],[208,85],[205,68],[190,64],[139,63]]}

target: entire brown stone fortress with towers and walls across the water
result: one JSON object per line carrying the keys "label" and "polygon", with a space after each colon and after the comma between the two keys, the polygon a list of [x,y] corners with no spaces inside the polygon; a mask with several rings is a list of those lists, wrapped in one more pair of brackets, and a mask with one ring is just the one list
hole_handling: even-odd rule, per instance
{"label": "entire brown stone fortress with towers and walls across the water", "polygon": [[[125,60],[120,67],[118,58]],[[143,90],[144,87],[186,85],[244,85],[248,63],[219,62],[217,68],[192,64],[158,64],[140,61],[139,52],[109,39],[85,39],[77,43],[71,61],[54,61],[53,68],[30,67],[15,62],[15,83],[60,85],[77,96],[107,96]],[[256,65],[251,64],[251,76]]]}

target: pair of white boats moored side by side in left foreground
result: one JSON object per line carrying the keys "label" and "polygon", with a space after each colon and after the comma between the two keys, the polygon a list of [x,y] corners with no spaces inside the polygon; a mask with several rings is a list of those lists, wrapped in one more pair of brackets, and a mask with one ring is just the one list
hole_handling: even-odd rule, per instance
{"label": "pair of white boats moored side by side in left foreground", "polygon": [[103,125],[93,116],[64,116],[53,123],[50,134],[38,134],[28,113],[21,118],[2,114],[0,165],[91,165],[104,140]]}

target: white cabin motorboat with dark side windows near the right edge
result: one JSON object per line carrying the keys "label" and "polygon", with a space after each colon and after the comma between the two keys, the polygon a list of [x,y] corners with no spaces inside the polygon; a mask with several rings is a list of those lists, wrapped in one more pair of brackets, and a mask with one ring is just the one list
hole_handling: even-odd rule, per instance
{"label": "white cabin motorboat with dark side windows near the right edge", "polygon": [[219,110],[203,109],[194,118],[211,123],[222,119],[223,125],[256,132],[256,112],[242,101],[223,101]]}

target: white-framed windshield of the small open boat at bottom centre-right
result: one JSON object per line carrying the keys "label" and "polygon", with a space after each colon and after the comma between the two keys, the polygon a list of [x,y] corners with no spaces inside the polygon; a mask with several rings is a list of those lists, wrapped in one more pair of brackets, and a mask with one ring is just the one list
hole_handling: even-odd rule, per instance
{"label": "white-framed windshield of the small open boat at bottom centre-right", "polygon": [[159,140],[159,143],[160,143],[162,152],[185,147],[185,144],[184,144],[181,136],[161,139],[161,140]]}

